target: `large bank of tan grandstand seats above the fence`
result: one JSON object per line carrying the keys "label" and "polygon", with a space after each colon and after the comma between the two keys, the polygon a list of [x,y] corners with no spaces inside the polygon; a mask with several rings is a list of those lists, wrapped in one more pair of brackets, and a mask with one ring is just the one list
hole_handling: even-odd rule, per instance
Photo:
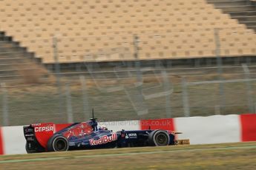
{"label": "large bank of tan grandstand seats above the fence", "polygon": [[243,3],[1,0],[0,29],[46,65],[55,63],[53,37],[61,64],[134,61],[134,35],[139,37],[140,61],[215,58],[215,29],[223,58],[255,56],[255,26],[237,14],[244,7],[241,13],[255,15],[255,6]]}

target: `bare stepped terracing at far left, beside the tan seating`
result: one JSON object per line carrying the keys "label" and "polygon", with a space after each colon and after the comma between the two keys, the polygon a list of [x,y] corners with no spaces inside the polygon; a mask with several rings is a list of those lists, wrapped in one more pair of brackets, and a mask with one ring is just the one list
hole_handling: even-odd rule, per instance
{"label": "bare stepped terracing at far left, beside the tan seating", "polygon": [[22,79],[27,82],[27,76],[30,76],[35,82],[46,75],[47,71],[37,65],[39,62],[33,56],[33,52],[27,52],[25,47],[19,46],[19,42],[0,32],[0,81]]}

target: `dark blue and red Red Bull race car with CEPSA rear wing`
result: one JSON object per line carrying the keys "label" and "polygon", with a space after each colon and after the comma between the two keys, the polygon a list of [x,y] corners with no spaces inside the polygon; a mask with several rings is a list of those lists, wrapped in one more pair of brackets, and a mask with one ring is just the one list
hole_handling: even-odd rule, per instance
{"label": "dark blue and red Red Bull race car with CEPSA rear wing", "polygon": [[[168,146],[178,143],[178,140],[175,140],[175,134],[177,133],[168,130],[151,130],[150,128],[133,131],[122,129],[118,132],[112,132],[106,128],[99,128],[94,118],[87,122],[63,125],[62,127],[57,127],[53,123],[24,126],[27,153],[134,146]],[[187,142],[189,143],[189,141]]]}

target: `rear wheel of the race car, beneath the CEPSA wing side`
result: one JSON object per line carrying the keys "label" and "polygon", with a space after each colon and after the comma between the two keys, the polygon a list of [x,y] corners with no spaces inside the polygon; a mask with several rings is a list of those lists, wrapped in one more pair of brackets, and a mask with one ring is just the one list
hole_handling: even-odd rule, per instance
{"label": "rear wheel of the race car, beneath the CEPSA wing side", "polygon": [[53,135],[47,142],[48,152],[64,152],[68,151],[68,140],[62,135]]}

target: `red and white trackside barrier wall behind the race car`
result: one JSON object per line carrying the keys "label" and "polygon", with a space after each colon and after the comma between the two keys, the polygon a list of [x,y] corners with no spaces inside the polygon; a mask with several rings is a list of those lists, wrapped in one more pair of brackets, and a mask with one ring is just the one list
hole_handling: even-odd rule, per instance
{"label": "red and white trackside barrier wall behind the race car", "polygon": [[[68,125],[58,124],[54,131]],[[178,138],[190,139],[191,144],[256,141],[256,114],[115,121],[99,123],[101,125],[114,132],[148,128],[182,132]],[[24,154],[25,143],[23,126],[0,127],[0,154]]]}

